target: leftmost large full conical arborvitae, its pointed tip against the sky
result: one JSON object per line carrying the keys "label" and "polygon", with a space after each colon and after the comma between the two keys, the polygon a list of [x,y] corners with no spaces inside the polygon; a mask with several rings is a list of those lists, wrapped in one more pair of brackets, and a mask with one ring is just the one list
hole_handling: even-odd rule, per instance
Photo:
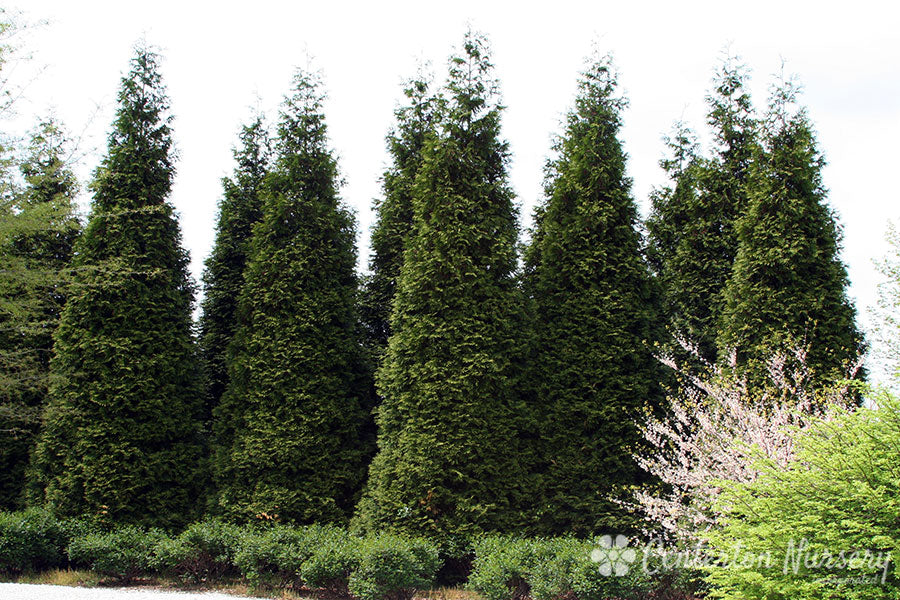
{"label": "leftmost large full conical arborvitae, its pointed tip against the sky", "polygon": [[62,513],[176,526],[197,515],[203,489],[202,390],[188,256],[166,199],[171,117],[157,62],[140,47],[122,79],[55,337],[34,477]]}

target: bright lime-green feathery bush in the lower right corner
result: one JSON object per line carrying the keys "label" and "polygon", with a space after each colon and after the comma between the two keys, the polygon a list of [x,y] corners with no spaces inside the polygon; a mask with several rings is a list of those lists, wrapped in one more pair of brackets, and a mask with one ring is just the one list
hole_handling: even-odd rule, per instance
{"label": "bright lime-green feathery bush in the lower right corner", "polygon": [[714,597],[897,597],[900,402],[876,401],[877,409],[822,420],[798,436],[787,469],[763,464],[756,481],[726,487],[728,519],[710,533],[711,550],[731,557],[740,546],[740,556],[768,561],[722,561],[708,575]]}

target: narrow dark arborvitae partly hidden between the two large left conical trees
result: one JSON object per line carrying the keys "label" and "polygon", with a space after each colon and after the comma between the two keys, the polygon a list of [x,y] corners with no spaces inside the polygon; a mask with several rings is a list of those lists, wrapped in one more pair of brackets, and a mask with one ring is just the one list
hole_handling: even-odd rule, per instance
{"label": "narrow dark arborvitae partly hidden between the two large left conical trees", "polygon": [[257,116],[241,129],[234,150],[234,175],[222,180],[216,240],[203,274],[200,350],[206,379],[206,419],[218,406],[228,383],[226,357],[237,328],[238,296],[250,252],[253,225],[262,217],[260,190],[268,170],[269,139]]}

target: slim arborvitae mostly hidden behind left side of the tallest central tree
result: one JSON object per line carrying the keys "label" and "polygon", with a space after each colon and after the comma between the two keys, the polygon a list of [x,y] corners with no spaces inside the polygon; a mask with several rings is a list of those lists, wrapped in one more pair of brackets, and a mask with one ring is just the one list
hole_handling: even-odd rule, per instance
{"label": "slim arborvitae mostly hidden behind left side of the tallest central tree", "polygon": [[413,186],[425,139],[436,118],[437,99],[430,85],[430,78],[421,74],[407,83],[403,92],[408,103],[394,112],[397,122],[387,136],[391,166],[384,173],[384,197],[375,204],[371,274],[361,303],[368,343],[376,360],[387,347],[391,333],[391,303],[403,264],[404,244],[412,230]]}

